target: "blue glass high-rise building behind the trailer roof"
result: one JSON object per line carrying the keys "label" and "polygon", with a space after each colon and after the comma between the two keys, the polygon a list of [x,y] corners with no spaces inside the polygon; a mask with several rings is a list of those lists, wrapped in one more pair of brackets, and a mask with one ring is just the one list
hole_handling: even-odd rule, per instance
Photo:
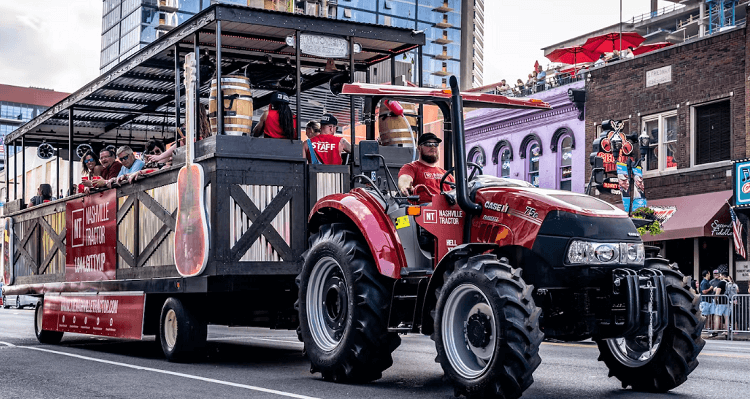
{"label": "blue glass high-rise building behind the trailer roof", "polygon": [[[422,80],[482,85],[483,0],[222,0],[222,3],[424,31]],[[211,0],[103,0],[100,73],[208,7]],[[416,52],[402,61],[415,62]],[[463,60],[463,65],[461,61]],[[471,60],[471,61],[470,61]],[[416,64],[412,76],[417,82]]]}

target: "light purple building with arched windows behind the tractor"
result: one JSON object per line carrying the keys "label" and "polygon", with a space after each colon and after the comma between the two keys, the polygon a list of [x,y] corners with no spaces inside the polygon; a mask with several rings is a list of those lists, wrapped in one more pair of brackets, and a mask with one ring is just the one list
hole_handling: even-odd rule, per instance
{"label": "light purple building with arched windows behind the tractor", "polygon": [[[584,81],[533,94],[551,110],[479,109],[466,116],[469,162],[487,175],[531,182],[541,188],[584,192],[588,143],[585,122],[568,89],[583,90]],[[583,107],[582,104],[578,104]]]}

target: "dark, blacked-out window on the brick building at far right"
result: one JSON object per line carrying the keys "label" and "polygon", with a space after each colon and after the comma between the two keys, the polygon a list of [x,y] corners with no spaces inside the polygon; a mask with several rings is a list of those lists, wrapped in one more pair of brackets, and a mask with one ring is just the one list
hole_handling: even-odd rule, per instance
{"label": "dark, blacked-out window on the brick building at far right", "polygon": [[695,108],[695,164],[725,161],[731,153],[729,101]]}

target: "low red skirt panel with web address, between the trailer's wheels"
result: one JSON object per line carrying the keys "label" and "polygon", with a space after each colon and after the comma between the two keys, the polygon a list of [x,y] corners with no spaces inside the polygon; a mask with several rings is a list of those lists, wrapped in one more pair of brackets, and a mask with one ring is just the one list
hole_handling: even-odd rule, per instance
{"label": "low red skirt panel with web address, between the trailer's wheels", "polygon": [[143,292],[47,294],[42,329],[141,339],[145,303]]}

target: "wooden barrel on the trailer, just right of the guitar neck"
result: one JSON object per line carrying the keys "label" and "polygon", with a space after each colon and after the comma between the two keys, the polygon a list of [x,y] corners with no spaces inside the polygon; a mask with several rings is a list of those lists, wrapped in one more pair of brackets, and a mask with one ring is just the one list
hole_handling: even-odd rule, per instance
{"label": "wooden barrel on the trailer, just right of the guitar neck", "polygon": [[[250,79],[241,75],[221,78],[224,94],[224,133],[233,136],[250,135],[253,127],[253,97]],[[208,102],[208,121],[211,133],[216,134],[216,79],[211,80]]]}

